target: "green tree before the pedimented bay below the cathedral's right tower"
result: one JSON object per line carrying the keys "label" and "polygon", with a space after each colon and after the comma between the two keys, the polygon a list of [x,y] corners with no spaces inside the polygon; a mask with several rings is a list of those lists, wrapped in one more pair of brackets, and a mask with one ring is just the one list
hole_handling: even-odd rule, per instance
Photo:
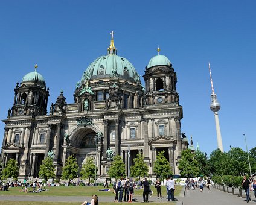
{"label": "green tree before the pedimented bay below the cathedral's right tower", "polygon": [[158,177],[167,177],[168,175],[173,175],[170,163],[164,156],[164,151],[159,151],[159,153],[156,155],[154,172]]}

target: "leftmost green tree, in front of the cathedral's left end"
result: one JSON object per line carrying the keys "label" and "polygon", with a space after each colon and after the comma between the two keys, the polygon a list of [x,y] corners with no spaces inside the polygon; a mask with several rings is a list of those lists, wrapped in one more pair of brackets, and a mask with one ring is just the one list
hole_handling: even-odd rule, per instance
{"label": "leftmost green tree, in front of the cathedral's left end", "polygon": [[5,168],[2,170],[2,179],[9,178],[9,183],[10,183],[11,178],[13,178],[14,180],[18,179],[18,173],[19,173],[19,168],[18,168],[17,161],[14,159],[10,159],[6,163]]}

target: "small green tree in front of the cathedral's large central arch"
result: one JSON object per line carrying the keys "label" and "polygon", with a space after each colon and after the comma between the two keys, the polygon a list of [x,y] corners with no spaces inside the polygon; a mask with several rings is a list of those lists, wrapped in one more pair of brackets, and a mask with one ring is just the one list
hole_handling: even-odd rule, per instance
{"label": "small green tree in front of the cathedral's large central arch", "polygon": [[89,178],[89,181],[91,181],[91,178],[95,177],[95,167],[94,158],[88,157],[82,165],[82,170],[80,171],[81,178]]}

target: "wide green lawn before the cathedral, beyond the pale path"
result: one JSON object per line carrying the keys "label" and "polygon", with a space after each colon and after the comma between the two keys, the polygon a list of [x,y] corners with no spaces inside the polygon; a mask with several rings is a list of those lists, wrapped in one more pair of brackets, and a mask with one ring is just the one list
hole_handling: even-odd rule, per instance
{"label": "wide green lawn before the cathedral, beyond the pale path", "polygon": [[[156,196],[156,188],[154,186],[150,187],[152,191],[154,192],[154,196]],[[112,191],[109,192],[100,192],[98,189],[104,189],[103,186],[56,186],[56,187],[47,187],[46,189],[49,189],[49,191],[43,191],[41,193],[25,193],[25,192],[20,192],[21,188],[20,187],[14,187],[14,188],[9,188],[9,191],[0,191],[0,197],[1,195],[12,195],[12,196],[17,196],[17,195],[40,195],[40,196],[60,196],[60,197],[91,197],[94,194],[97,194],[98,197],[113,197],[114,198],[114,193]],[[176,190],[174,192],[175,196],[178,196],[179,193],[181,192],[182,186],[176,186]],[[29,190],[33,190],[33,188],[28,188]],[[143,189],[135,189],[135,196],[142,196]],[[162,195],[165,196],[165,186],[162,186]],[[0,204],[1,201],[0,201]],[[8,204],[8,203],[7,203]],[[28,203],[30,204],[30,203]],[[45,203],[47,204],[47,203]],[[58,204],[58,203],[56,203]],[[72,204],[72,203],[67,203],[67,204]],[[100,203],[101,204],[101,203]],[[104,203],[102,203],[104,204]],[[108,203],[106,203],[108,204]],[[109,203],[113,204],[113,203]],[[118,203],[118,204],[123,204],[123,203]],[[127,204],[127,203],[124,203]],[[139,204],[139,203],[138,203]],[[147,203],[149,204],[149,203]],[[156,204],[156,203],[152,203]]]}

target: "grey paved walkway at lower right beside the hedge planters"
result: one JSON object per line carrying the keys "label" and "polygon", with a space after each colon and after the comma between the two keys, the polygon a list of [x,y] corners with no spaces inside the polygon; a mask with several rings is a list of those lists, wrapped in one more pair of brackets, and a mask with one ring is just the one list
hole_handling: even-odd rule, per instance
{"label": "grey paved walkway at lower right beside the hedge planters", "polygon": [[[256,204],[256,198],[253,192],[252,197],[248,204]],[[208,192],[208,188],[203,188],[203,192],[200,189],[187,190],[185,197],[178,198],[183,201],[184,205],[194,204],[194,205],[205,205],[205,204],[216,204],[216,205],[237,205],[237,204],[247,204],[246,198],[238,197],[238,195],[233,195],[228,192],[223,192],[214,188],[211,188],[211,192]]]}

